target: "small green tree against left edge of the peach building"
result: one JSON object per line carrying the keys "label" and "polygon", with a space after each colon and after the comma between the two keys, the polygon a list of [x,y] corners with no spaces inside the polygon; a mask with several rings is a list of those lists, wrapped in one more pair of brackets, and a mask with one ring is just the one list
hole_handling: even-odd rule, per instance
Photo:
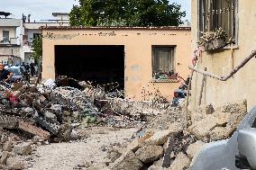
{"label": "small green tree against left edge of the peach building", "polygon": [[36,63],[41,63],[42,56],[42,36],[38,35],[32,40],[32,58]]}

